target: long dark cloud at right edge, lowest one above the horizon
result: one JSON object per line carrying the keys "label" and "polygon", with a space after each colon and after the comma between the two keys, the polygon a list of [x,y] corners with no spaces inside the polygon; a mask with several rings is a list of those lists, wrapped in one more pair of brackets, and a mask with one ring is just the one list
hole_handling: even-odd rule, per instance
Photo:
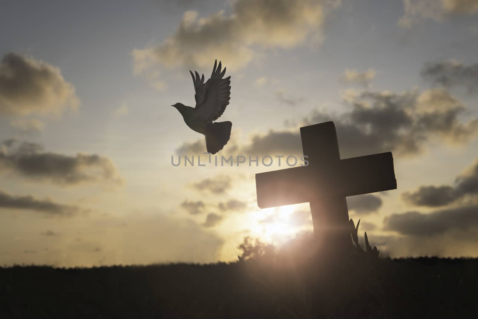
{"label": "long dark cloud at right edge, lowest one above the horizon", "polygon": [[478,205],[443,209],[424,214],[409,211],[392,214],[383,220],[384,230],[402,235],[433,235],[451,229],[465,230],[478,226]]}

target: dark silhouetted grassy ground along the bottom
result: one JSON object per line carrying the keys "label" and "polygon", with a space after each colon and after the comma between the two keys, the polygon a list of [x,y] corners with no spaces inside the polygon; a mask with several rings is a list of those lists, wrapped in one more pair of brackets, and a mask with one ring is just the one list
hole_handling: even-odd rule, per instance
{"label": "dark silhouetted grassy ground along the bottom", "polygon": [[0,268],[0,318],[478,318],[478,259]]}

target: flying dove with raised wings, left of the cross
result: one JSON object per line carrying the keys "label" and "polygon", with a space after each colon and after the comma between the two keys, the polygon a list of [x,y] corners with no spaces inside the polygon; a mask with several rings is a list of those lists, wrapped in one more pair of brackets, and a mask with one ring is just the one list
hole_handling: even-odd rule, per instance
{"label": "flying dove with raised wings, left of the cross", "polygon": [[196,77],[193,77],[194,89],[196,94],[196,107],[192,108],[183,103],[176,103],[174,106],[187,126],[193,131],[204,134],[206,136],[206,149],[208,153],[216,154],[224,145],[226,145],[231,136],[232,123],[230,121],[216,121],[229,104],[231,87],[230,76],[222,78],[226,73],[226,68],[221,72],[221,61],[217,66],[217,60],[214,62],[211,78],[204,83],[204,74],[199,77],[195,71]]}

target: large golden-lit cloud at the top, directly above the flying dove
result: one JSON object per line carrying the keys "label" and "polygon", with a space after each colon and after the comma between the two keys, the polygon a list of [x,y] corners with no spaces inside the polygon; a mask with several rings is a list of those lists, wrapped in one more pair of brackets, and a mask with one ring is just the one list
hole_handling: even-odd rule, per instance
{"label": "large golden-lit cloud at the top, directly above the flying dove", "polygon": [[230,71],[247,66],[269,48],[320,44],[326,14],[340,1],[237,0],[231,14],[224,10],[206,17],[185,11],[176,32],[156,47],[132,52],[135,73],[160,68],[210,68],[220,57]]}

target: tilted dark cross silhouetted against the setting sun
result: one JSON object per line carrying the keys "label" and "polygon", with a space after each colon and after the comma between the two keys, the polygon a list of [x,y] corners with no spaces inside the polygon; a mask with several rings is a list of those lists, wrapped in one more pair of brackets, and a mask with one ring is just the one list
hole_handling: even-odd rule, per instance
{"label": "tilted dark cross silhouetted against the setting sun", "polygon": [[256,174],[257,205],[309,202],[321,249],[345,252],[351,245],[346,197],[396,189],[392,154],[341,160],[332,121],[301,127],[300,134],[309,165]]}

